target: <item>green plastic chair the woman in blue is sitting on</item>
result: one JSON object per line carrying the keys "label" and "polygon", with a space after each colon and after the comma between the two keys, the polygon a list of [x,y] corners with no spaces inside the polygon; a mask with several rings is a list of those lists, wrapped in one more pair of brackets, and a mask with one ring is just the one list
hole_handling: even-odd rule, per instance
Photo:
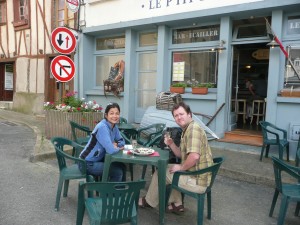
{"label": "green plastic chair the woman in blue is sitting on", "polygon": [[[61,191],[64,186],[63,197],[67,197],[69,181],[74,179],[86,178],[86,162],[79,156],[83,146],[78,145],[72,140],[63,137],[53,137],[51,142],[54,145],[59,167],[59,181],[56,193],[55,210],[59,210]],[[75,149],[74,156],[65,152],[66,147]],[[69,163],[74,162],[74,163]],[[78,164],[81,163],[82,171],[79,170]]]}

